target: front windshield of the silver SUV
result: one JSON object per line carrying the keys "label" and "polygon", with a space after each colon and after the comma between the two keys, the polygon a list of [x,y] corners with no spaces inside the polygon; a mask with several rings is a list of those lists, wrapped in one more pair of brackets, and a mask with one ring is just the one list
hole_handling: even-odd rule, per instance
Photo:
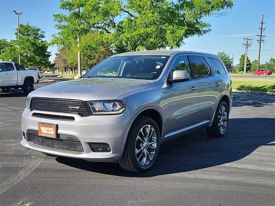
{"label": "front windshield of the silver SUV", "polygon": [[170,56],[135,55],[109,57],[94,66],[82,77],[114,77],[157,79]]}

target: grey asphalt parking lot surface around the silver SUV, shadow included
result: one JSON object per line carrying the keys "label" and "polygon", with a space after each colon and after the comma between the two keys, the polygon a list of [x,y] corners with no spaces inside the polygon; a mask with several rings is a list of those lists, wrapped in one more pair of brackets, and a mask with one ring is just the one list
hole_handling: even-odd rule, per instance
{"label": "grey asphalt parking lot surface around the silver SUV, shadow included", "polygon": [[23,148],[17,92],[0,95],[1,205],[274,205],[273,95],[234,93],[224,137],[201,129],[166,142],[155,167],[135,174]]}

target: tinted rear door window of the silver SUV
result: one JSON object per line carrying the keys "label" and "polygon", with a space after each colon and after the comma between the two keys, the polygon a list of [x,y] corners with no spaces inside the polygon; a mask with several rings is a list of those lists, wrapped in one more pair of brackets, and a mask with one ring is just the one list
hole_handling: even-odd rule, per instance
{"label": "tinted rear door window of the silver SUV", "polygon": [[201,78],[211,76],[211,72],[205,58],[202,56],[190,56],[191,58],[191,68],[192,68],[192,78]]}

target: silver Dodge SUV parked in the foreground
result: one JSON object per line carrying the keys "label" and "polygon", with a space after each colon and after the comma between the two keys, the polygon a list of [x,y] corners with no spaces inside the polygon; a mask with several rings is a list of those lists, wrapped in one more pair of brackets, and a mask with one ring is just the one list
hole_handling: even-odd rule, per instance
{"label": "silver Dodge SUV parked in the foreground", "polygon": [[29,94],[21,144],[42,153],[150,169],[160,144],[206,128],[223,136],[232,83],[221,59],[189,51],[106,58],[81,78]]}

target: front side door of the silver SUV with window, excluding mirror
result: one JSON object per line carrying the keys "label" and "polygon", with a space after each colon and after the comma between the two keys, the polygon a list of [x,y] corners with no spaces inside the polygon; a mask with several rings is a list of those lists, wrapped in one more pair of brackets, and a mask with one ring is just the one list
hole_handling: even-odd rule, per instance
{"label": "front side door of the silver SUV with window, excluding mirror", "polygon": [[186,70],[190,80],[170,84],[169,130],[175,131],[197,123],[199,92],[197,80],[192,79],[188,56],[177,56],[172,62],[168,78],[173,71]]}

